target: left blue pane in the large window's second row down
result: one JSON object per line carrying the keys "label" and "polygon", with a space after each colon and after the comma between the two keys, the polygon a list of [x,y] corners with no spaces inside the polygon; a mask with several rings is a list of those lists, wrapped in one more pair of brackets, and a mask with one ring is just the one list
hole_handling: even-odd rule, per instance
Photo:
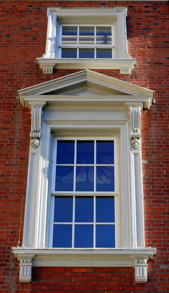
{"label": "left blue pane in the large window's second row down", "polygon": [[73,191],[74,167],[56,166],[55,191]]}

